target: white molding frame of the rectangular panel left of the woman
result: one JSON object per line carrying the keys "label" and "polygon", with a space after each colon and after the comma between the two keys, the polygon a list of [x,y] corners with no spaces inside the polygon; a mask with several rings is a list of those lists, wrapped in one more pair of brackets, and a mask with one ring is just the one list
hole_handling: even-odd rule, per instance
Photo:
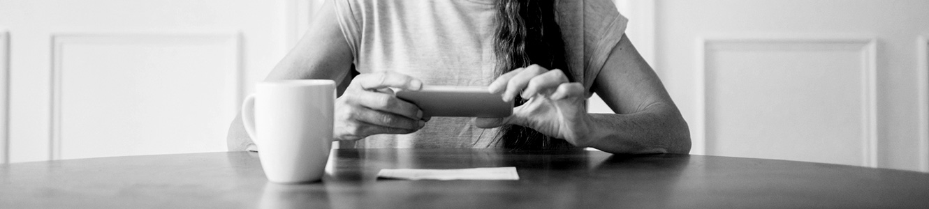
{"label": "white molding frame of the rectangular panel left of the woman", "polygon": [[239,109],[244,90],[245,75],[242,63],[242,33],[239,31],[216,32],[78,32],[78,33],[52,33],[51,35],[51,73],[49,88],[51,90],[49,159],[61,159],[61,94],[62,94],[62,48],[69,44],[119,44],[119,43],[228,43],[235,49],[235,72],[230,73],[234,78],[234,101],[229,101],[232,109]]}

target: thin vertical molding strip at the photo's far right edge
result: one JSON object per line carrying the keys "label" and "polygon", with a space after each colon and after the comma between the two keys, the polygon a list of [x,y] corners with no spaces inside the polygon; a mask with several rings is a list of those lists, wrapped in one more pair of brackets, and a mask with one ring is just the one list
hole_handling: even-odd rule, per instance
{"label": "thin vertical molding strip at the photo's far right edge", "polygon": [[920,170],[929,172],[929,35],[916,39],[916,92],[919,93]]}

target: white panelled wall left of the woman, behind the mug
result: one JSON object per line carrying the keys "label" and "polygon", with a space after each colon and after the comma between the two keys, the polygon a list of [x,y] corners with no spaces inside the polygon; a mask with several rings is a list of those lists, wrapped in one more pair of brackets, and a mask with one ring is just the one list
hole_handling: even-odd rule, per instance
{"label": "white panelled wall left of the woman, behind the mug", "polygon": [[226,151],[316,2],[0,1],[0,162]]}

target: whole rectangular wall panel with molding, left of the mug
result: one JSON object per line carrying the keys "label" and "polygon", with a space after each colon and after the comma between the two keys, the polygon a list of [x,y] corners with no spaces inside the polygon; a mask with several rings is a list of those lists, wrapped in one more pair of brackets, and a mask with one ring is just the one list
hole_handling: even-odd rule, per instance
{"label": "whole rectangular wall panel with molding, left of the mug", "polygon": [[[55,35],[52,159],[226,151],[239,36]],[[101,149],[102,147],[120,149]]]}

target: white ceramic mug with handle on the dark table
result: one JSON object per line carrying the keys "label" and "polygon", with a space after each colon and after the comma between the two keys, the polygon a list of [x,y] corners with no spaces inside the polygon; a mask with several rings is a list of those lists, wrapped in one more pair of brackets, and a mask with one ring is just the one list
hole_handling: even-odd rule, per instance
{"label": "white ceramic mug with handle on the dark table", "polygon": [[276,183],[321,179],[333,141],[335,81],[274,80],[255,87],[242,104],[242,123],[265,176]]}

